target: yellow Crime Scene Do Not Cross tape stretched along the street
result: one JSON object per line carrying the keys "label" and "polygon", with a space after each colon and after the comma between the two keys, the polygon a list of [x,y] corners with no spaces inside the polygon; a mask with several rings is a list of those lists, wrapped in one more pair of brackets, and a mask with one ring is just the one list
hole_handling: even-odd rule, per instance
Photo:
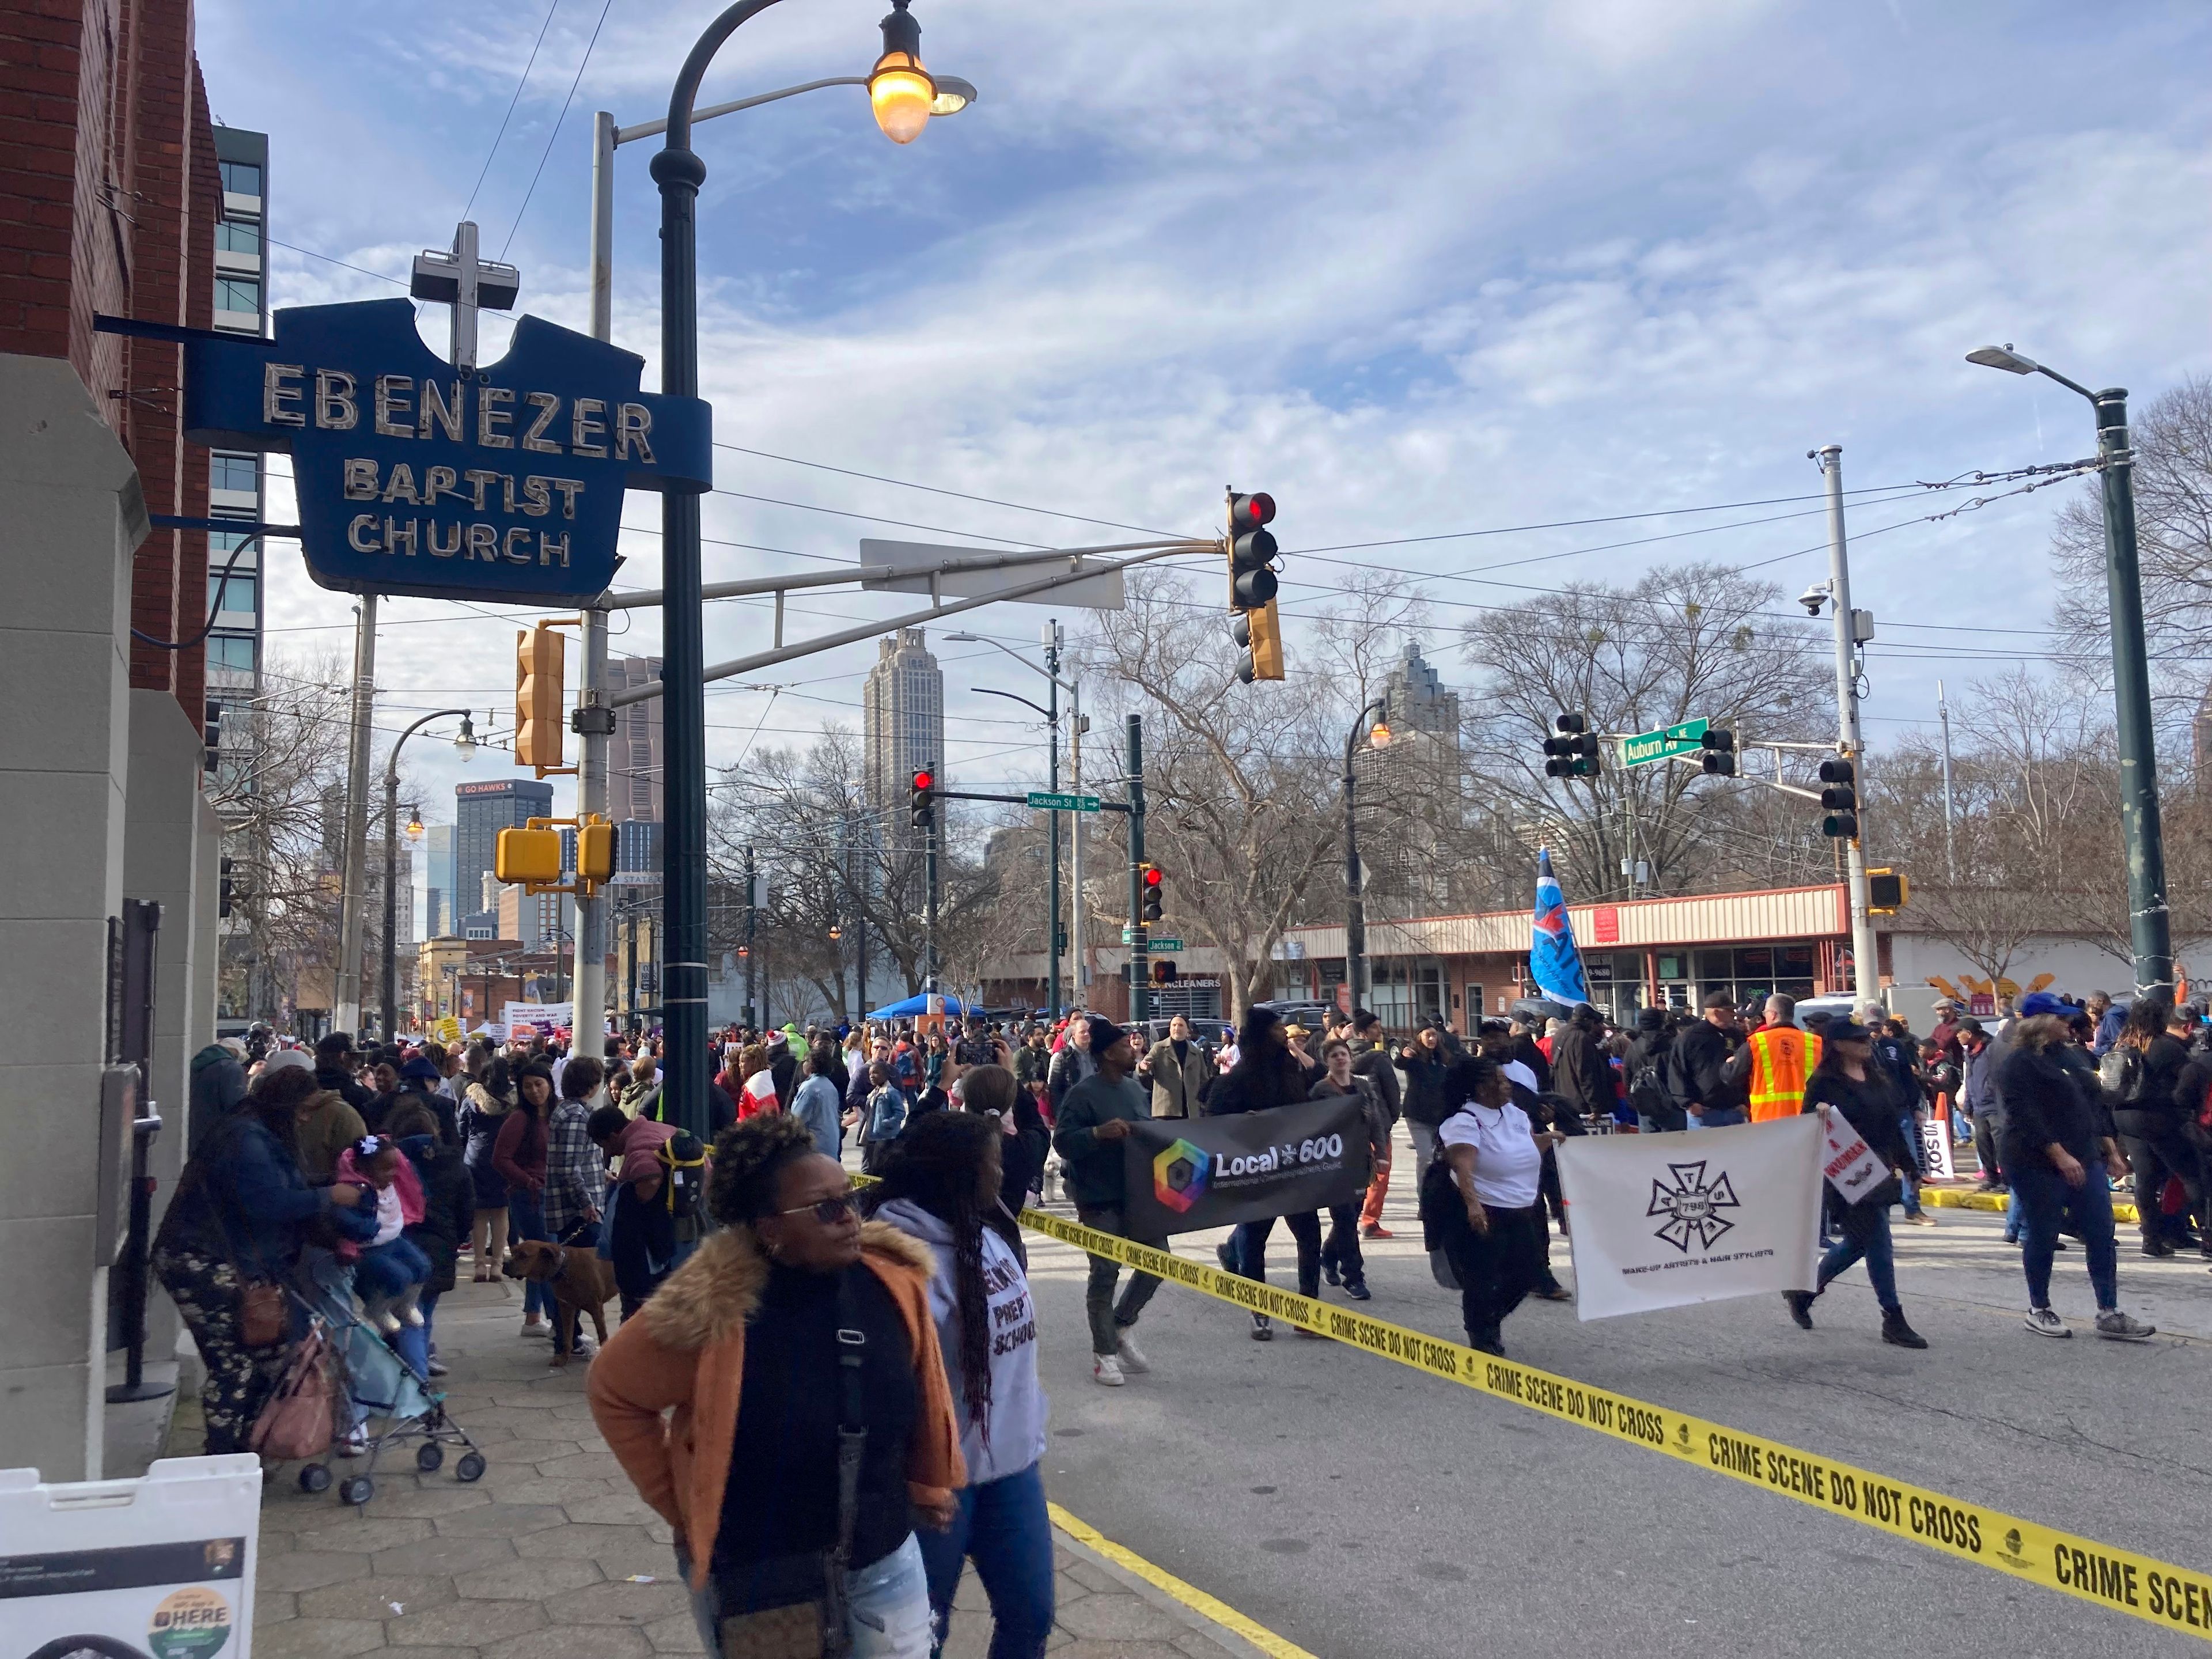
{"label": "yellow Crime Scene Do Not Cross tape stretched along the street", "polygon": [[1462,1343],[1367,1318],[1347,1307],[1274,1290],[1201,1261],[1117,1239],[1042,1210],[1022,1210],[1022,1225],[1095,1256],[1157,1274],[1201,1296],[1267,1314],[1349,1343],[1416,1371],[1542,1411],[1562,1422],[1659,1451],[1747,1486],[1794,1498],[1812,1509],[1927,1544],[1993,1573],[2062,1590],[2101,1608],[2128,1613],[2166,1630],[2212,1641],[2212,1573],[2112,1548],[2062,1533],[2002,1509],[1971,1504],[1927,1486],[1878,1475],[1858,1464],[1692,1418],[1661,1405],[1575,1383],[1531,1365],[1493,1358]]}

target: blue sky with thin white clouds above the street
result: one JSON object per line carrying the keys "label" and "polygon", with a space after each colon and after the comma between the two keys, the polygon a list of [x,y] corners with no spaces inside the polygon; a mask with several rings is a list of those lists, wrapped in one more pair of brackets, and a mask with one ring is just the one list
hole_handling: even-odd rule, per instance
{"label": "blue sky with thin white clouds above the street", "polygon": [[[706,97],[865,73],[880,7],[785,0],[739,31]],[[664,113],[714,11],[611,0],[599,27],[602,0],[560,0],[551,22],[549,0],[201,0],[217,117],[270,133],[270,232],[292,243],[272,303],[387,296],[380,276],[467,208],[522,265],[529,310],[586,325],[591,115]],[[2212,367],[2197,4],[916,15],[925,60],[982,88],[920,142],[887,144],[858,88],[699,128],[714,431],[785,458],[719,453],[730,493],[708,498],[706,533],[748,546],[708,546],[708,580],[821,568],[869,533],[1113,535],[1084,515],[1210,531],[1234,480],[1281,502],[1292,613],[1360,566],[1416,573],[1431,659],[1464,681],[1458,624],[1546,584],[1688,557],[1759,564],[1790,593],[1825,575],[1818,502],[1787,500],[1820,487],[1814,445],[1843,445],[1854,489],[2093,449],[2086,405],[1969,367],[1973,345],[2015,341],[2137,400]],[[648,358],[650,148],[619,153],[615,241],[615,338]],[[442,349],[440,310],[422,330]],[[487,327],[487,356],[502,341]],[[1882,622],[1878,743],[1933,717],[1938,675],[1955,688],[2048,650],[2062,493],[1940,524],[1913,520],[1944,502],[1854,502],[1856,599]],[[1467,535],[1630,513],[1650,518]],[[635,498],[628,522],[657,526],[657,502]],[[1385,546],[1321,551],[1349,542]],[[624,584],[657,582],[657,538],[624,553]],[[792,633],[894,608],[799,599]],[[511,624],[420,599],[385,615],[380,726],[445,703],[511,721]],[[1033,646],[1042,615],[978,626]],[[279,562],[272,650],[343,650],[347,617]],[[710,606],[708,659],[765,633],[765,608]],[[653,641],[639,617],[617,648]],[[776,692],[717,688],[710,759],[856,719],[872,655],[787,664],[763,675]],[[982,646],[940,659],[953,772],[1035,781],[1035,730],[964,690],[1035,677]],[[458,768],[427,752],[418,772],[425,816],[451,816]]]}

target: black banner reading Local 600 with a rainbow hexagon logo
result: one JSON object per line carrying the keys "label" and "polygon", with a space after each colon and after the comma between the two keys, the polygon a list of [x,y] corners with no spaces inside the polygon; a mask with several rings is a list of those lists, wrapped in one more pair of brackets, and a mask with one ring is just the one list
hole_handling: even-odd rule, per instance
{"label": "black banner reading Local 600 with a rainbow hexagon logo", "polygon": [[1367,1190],[1358,1095],[1230,1117],[1130,1124],[1124,1157],[1133,1237],[1321,1210]]}

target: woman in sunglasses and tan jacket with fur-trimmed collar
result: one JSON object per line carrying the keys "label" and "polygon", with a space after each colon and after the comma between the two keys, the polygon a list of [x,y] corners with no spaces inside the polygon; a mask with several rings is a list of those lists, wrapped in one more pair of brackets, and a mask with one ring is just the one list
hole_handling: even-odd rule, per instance
{"label": "woman in sunglasses and tan jacket with fur-trimmed collar", "polygon": [[[929,1250],[863,1225],[845,1170],[787,1113],[721,1133],[706,1203],[719,1230],[599,1349],[593,1420],[675,1528],[710,1655],[803,1621],[843,1571],[852,1659],[922,1659],[914,1517],[951,1526],[967,1484]],[[863,1431],[858,1502],[841,1513],[847,1429]]]}

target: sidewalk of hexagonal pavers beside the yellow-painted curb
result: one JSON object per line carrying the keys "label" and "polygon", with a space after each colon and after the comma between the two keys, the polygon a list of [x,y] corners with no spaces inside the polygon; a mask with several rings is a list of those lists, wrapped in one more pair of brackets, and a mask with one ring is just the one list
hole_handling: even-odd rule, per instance
{"label": "sidewalk of hexagonal pavers beside the yellow-painted curb", "polygon": [[[259,1659],[646,1659],[699,1652],[668,1526],[622,1478],[591,1425],[584,1367],[555,1371],[520,1334],[520,1298],[462,1283],[438,1307],[451,1416],[482,1447],[476,1484],[414,1471],[411,1447],[347,1509],[285,1469],[261,1509]],[[1071,1338],[1073,1340],[1073,1338]],[[1066,1420],[1084,1405],[1057,1400]],[[170,1453],[199,1449],[179,1402]],[[334,1473],[349,1464],[336,1460]],[[1055,1531],[1066,1659],[1223,1659],[1263,1652],[1199,1610]],[[1121,1540],[1141,1551],[1144,1540]],[[949,1659],[982,1659],[991,1619],[962,1579]],[[1296,1652],[1270,1646],[1274,1655]]]}

